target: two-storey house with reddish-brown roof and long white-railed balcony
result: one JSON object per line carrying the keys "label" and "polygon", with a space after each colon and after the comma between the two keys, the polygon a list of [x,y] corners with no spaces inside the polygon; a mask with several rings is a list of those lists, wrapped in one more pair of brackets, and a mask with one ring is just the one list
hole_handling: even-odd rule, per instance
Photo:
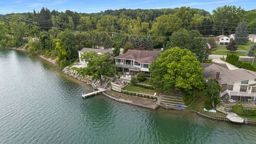
{"label": "two-storey house with reddish-brown roof and long white-railed balcony", "polygon": [[161,51],[128,50],[126,53],[114,58],[116,60],[116,69],[131,75],[138,73],[150,75],[148,68],[159,54],[161,54]]}

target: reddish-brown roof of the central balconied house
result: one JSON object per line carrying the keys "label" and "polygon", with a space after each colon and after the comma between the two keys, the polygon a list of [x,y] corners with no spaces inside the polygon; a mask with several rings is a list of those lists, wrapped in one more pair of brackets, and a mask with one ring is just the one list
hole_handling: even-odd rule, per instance
{"label": "reddish-brown roof of the central balconied house", "polygon": [[122,55],[115,57],[116,59],[129,59],[139,61],[141,63],[152,63],[161,54],[161,51],[141,51],[141,50],[128,50]]}

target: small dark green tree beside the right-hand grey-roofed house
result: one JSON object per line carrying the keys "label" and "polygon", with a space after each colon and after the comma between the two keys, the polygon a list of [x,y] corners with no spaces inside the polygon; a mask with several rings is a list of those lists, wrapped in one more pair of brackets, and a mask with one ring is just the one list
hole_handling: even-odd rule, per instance
{"label": "small dark green tree beside the right-hand grey-roofed house", "polygon": [[212,79],[209,79],[205,83],[202,94],[207,98],[204,102],[206,109],[212,109],[219,104],[220,100],[220,85],[215,83]]}

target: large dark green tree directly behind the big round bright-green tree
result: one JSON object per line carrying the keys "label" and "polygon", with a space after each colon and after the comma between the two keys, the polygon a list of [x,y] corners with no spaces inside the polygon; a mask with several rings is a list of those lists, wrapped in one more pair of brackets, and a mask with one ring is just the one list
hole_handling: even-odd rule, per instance
{"label": "large dark green tree directly behind the big round bright-green tree", "polygon": [[208,57],[208,54],[205,53],[206,45],[201,37],[202,35],[197,30],[179,29],[172,34],[166,47],[170,49],[171,47],[178,46],[181,49],[188,49],[196,53],[198,60],[202,61]]}

